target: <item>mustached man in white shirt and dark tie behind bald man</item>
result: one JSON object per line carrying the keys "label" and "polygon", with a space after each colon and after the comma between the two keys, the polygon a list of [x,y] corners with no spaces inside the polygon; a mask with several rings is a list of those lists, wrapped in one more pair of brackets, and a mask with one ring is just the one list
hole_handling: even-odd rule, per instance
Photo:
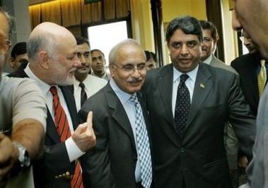
{"label": "mustached man in white shirt and dark tie behind bald man", "polygon": [[91,71],[91,45],[88,40],[83,37],[76,37],[77,57],[81,61],[81,66],[78,66],[74,71],[74,86],[71,86],[76,99],[76,109],[80,110],[83,105],[83,97],[89,98],[103,88],[107,81],[103,78],[98,78],[88,74]]}

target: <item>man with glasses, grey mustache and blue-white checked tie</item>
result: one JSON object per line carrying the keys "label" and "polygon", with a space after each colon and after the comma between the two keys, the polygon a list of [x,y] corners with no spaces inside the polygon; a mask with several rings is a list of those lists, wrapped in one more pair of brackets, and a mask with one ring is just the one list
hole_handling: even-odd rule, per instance
{"label": "man with glasses, grey mustache and blue-white checked tie", "polygon": [[[145,61],[144,49],[134,40],[124,40],[113,47],[109,55],[112,78],[103,89],[88,98],[78,112],[80,122],[86,119],[89,111],[94,113],[97,143],[82,161],[83,180],[88,187],[151,187],[148,114],[139,93],[146,76]],[[136,110],[134,97],[138,98],[142,113]],[[138,122],[137,114],[142,114],[141,122],[144,123]],[[144,131],[139,131],[139,127]]]}

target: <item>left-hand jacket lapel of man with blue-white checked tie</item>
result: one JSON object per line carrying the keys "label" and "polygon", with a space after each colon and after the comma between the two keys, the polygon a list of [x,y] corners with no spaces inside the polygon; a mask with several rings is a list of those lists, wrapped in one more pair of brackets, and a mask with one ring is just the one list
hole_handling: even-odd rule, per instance
{"label": "left-hand jacket lapel of man with blue-white checked tie", "polygon": [[110,84],[107,84],[104,90],[108,102],[108,107],[114,110],[114,113],[112,114],[113,119],[115,119],[115,121],[118,122],[117,125],[122,127],[122,129],[126,132],[126,134],[129,136],[132,146],[136,148],[132,126],[129,122],[129,118],[127,117],[127,113],[125,112],[123,105],[117,98],[114,90],[112,90]]}

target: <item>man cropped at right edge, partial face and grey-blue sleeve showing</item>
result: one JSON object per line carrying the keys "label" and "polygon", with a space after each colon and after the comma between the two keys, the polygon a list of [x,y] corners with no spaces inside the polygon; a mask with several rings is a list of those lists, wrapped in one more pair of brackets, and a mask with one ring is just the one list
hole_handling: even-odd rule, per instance
{"label": "man cropped at right edge, partial face and grey-blue sleeve showing", "polygon": [[[268,1],[236,0],[231,1],[234,30],[243,29],[260,52],[263,59],[268,59]],[[232,4],[233,3],[233,4]],[[257,135],[253,148],[253,158],[247,168],[249,184],[247,187],[262,188],[268,186],[268,89],[260,98],[257,110]]]}

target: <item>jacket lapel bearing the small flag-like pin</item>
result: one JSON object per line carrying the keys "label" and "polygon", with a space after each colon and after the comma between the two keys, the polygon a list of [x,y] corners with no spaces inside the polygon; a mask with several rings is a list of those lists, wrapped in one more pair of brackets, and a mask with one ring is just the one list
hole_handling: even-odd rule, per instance
{"label": "jacket lapel bearing the small flag-like pin", "polygon": [[196,116],[204,100],[209,94],[212,83],[209,80],[211,77],[210,72],[206,69],[203,63],[199,64],[199,70],[197,71],[197,78],[194,84],[194,93],[192,96],[192,104],[190,107],[189,117],[185,129],[191,124],[192,120]]}

